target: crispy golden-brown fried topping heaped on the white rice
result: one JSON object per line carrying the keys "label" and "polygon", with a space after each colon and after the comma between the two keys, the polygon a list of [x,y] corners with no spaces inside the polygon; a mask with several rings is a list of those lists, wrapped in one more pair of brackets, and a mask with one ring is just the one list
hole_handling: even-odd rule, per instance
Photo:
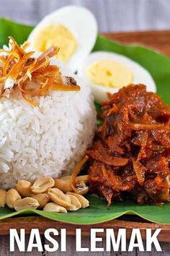
{"label": "crispy golden-brown fried topping heaped on the white rice", "polygon": [[9,48],[0,50],[0,98],[9,98],[18,88],[23,98],[37,106],[34,96],[45,96],[48,90],[80,90],[73,77],[62,76],[59,68],[50,64],[50,58],[58,54],[59,48],[51,46],[35,58],[34,51],[26,52],[29,43],[18,46],[9,37]]}

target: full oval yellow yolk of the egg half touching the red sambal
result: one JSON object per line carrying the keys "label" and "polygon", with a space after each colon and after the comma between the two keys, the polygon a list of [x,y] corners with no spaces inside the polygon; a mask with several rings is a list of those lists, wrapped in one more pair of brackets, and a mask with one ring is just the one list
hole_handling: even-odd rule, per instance
{"label": "full oval yellow yolk of the egg half touching the red sambal", "polygon": [[107,88],[122,88],[133,82],[133,72],[124,64],[112,59],[101,59],[86,69],[89,80]]}

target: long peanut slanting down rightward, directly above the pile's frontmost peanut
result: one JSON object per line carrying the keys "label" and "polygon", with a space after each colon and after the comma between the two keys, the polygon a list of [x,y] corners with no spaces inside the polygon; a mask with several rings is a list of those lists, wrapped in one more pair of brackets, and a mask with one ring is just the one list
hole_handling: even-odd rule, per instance
{"label": "long peanut slanting down rightward, directly above the pile's frontmost peanut", "polygon": [[71,199],[68,195],[65,195],[60,189],[53,188],[48,190],[48,196],[53,202],[63,207],[71,206]]}

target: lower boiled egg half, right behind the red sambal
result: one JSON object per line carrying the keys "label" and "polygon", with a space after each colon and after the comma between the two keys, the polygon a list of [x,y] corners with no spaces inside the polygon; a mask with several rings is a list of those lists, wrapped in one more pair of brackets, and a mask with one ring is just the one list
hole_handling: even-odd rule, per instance
{"label": "lower boiled egg half, right behind the red sambal", "polygon": [[78,74],[91,84],[96,101],[107,101],[107,93],[116,93],[123,86],[144,84],[147,90],[156,92],[151,74],[140,64],[120,54],[96,51],[81,62]]}

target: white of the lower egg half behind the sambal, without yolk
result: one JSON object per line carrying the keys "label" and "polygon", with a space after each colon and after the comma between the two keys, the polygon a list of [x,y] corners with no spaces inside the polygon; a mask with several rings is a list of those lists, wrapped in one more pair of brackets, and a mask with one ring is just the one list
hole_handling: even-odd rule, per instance
{"label": "white of the lower egg half behind the sambal, without yolk", "polygon": [[86,74],[87,67],[89,67],[90,64],[101,59],[112,59],[114,61],[120,62],[121,64],[124,64],[126,67],[132,70],[134,76],[133,83],[135,85],[146,85],[147,90],[149,92],[156,93],[156,84],[153,78],[151,77],[151,74],[146,69],[144,69],[140,64],[120,54],[115,54],[107,51],[96,51],[94,53],[89,54],[89,56],[86,56],[84,61],[81,62],[78,69],[79,76],[84,77],[86,80],[90,82],[91,90],[94,94],[95,101],[99,103],[101,103],[102,101],[107,101],[107,93],[117,93],[117,91],[120,89],[106,88],[102,85],[94,84],[89,80],[89,77]]}

